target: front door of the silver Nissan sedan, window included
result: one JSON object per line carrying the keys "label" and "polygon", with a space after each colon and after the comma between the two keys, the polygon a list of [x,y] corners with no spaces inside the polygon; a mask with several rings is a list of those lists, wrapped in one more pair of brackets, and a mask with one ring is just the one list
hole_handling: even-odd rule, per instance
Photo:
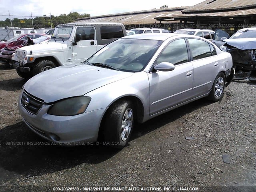
{"label": "front door of the silver Nissan sedan, window included", "polygon": [[169,72],[152,71],[148,74],[150,115],[189,101],[192,91],[193,66],[188,59],[184,38],[170,42],[159,54],[154,65],[161,62],[170,62],[175,65],[175,69]]}

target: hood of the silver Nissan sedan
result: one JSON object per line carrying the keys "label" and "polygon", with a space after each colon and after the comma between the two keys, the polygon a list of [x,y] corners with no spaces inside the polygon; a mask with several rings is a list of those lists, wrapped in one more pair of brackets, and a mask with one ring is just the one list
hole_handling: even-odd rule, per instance
{"label": "hood of the silver Nissan sedan", "polygon": [[24,89],[46,103],[82,96],[106,84],[132,76],[133,73],[70,64],[42,72],[26,82]]}

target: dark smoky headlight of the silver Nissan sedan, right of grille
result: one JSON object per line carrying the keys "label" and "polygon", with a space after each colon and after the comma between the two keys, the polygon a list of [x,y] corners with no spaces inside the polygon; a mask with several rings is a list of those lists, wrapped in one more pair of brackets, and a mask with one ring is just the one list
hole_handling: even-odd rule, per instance
{"label": "dark smoky headlight of the silver Nissan sedan, right of grille", "polygon": [[74,116],[85,112],[91,101],[90,97],[72,97],[56,102],[48,110],[48,114],[56,116]]}

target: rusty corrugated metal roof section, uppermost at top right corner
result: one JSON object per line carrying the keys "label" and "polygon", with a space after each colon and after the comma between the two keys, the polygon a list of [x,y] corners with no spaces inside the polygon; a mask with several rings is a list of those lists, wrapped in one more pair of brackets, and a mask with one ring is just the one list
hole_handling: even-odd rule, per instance
{"label": "rusty corrugated metal roof section, uppermost at top right corner", "polygon": [[182,13],[200,13],[205,11],[228,11],[243,8],[256,8],[256,0],[206,0],[182,10]]}

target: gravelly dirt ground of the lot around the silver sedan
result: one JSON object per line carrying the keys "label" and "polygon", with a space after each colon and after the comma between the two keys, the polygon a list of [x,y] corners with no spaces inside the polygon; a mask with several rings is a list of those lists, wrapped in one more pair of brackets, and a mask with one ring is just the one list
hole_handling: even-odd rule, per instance
{"label": "gravelly dirt ground of the lot around the silver sedan", "polygon": [[[18,113],[24,83],[15,70],[0,64],[0,190],[256,186],[256,84],[234,81],[221,102],[201,99],[137,124],[129,146],[114,150],[103,145],[34,145],[45,140],[30,131]],[[223,162],[224,154],[230,164]]]}

